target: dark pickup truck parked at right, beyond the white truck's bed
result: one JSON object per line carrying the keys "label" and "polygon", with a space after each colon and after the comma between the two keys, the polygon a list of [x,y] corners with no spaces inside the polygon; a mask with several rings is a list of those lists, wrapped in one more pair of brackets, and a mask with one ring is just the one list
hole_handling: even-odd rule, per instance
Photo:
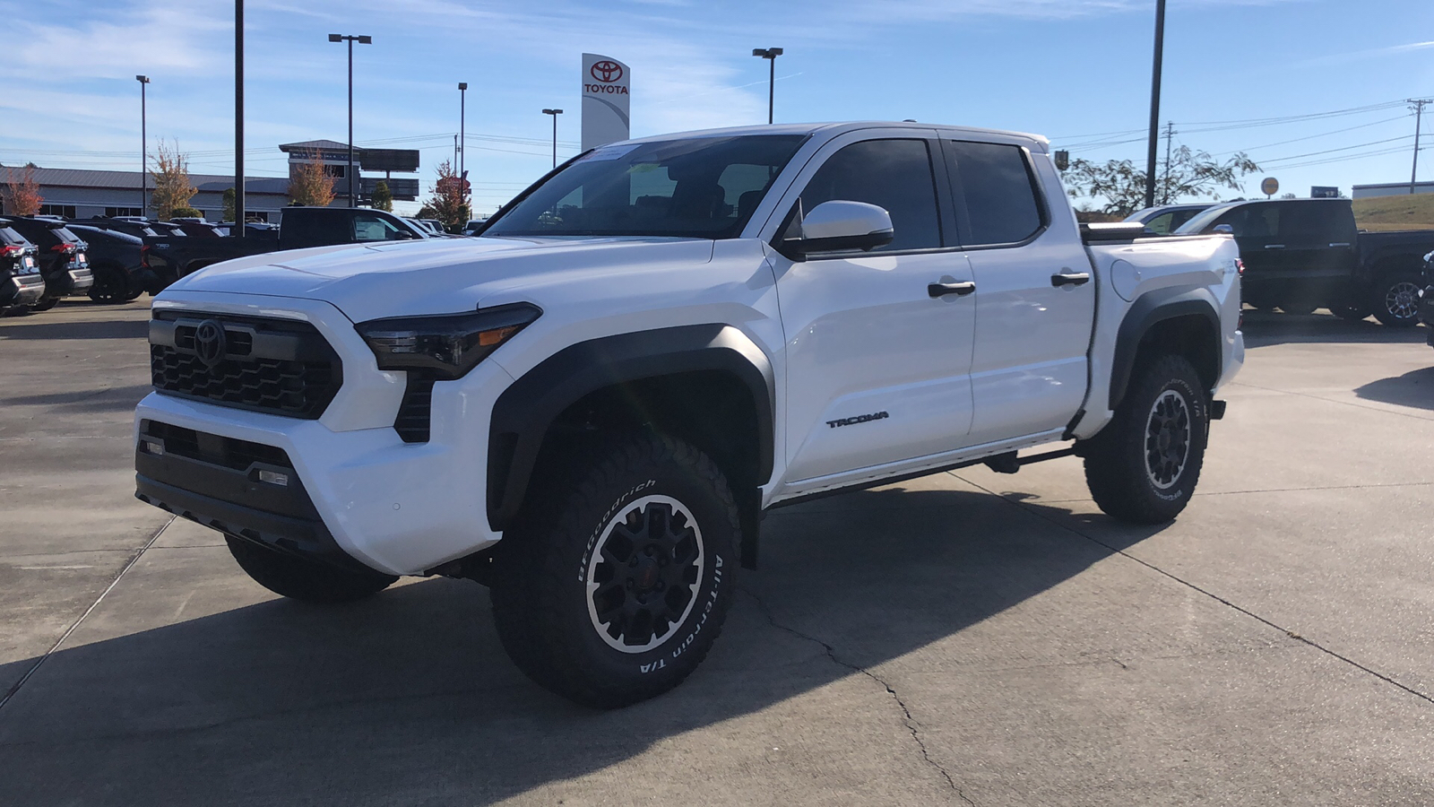
{"label": "dark pickup truck parked at right, beyond the white truck's bed", "polygon": [[1279,200],[1215,205],[1176,233],[1225,227],[1245,261],[1245,302],[1256,309],[1328,307],[1351,320],[1372,313],[1390,326],[1418,322],[1420,270],[1434,230],[1364,233],[1349,200]]}

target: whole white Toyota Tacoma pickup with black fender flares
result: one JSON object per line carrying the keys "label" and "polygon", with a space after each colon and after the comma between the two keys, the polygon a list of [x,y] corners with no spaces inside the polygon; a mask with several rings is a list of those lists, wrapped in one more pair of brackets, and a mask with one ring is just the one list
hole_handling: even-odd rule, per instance
{"label": "whole white Toyota Tacoma pickup with black fender flares", "polygon": [[1243,362],[1239,273],[1228,235],[1078,225],[1038,136],[628,141],[476,238],[171,286],[136,495],[288,597],[486,583],[523,672],[619,706],[707,655],[764,510],[1076,454],[1106,513],[1173,518]]}

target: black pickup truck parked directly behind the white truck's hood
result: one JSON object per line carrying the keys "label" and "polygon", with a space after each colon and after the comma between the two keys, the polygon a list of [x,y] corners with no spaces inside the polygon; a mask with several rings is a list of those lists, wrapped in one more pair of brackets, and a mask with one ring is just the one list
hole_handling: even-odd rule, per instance
{"label": "black pickup truck parked directly behind the white truck's hood", "polygon": [[224,235],[217,238],[145,237],[145,267],[152,273],[151,293],[159,293],[175,280],[209,264],[305,247],[334,244],[366,244],[370,241],[404,241],[426,238],[403,218],[366,207],[287,207],[278,227],[278,238],[245,238]]}

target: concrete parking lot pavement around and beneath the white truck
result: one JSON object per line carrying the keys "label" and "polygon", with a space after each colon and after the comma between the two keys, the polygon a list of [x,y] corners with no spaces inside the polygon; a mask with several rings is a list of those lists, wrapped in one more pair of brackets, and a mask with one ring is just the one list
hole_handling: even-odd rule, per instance
{"label": "concrete parking lot pavement around and beneath the white truck", "polygon": [[0,319],[0,804],[1427,804],[1434,349],[1250,314],[1195,501],[1078,460],[771,513],[670,695],[591,712],[486,592],[284,602],[132,497],[145,303]]}

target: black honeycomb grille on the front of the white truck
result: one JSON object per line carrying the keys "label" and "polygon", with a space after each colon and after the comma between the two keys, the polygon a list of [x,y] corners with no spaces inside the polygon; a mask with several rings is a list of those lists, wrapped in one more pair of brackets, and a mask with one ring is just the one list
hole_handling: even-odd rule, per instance
{"label": "black honeycomb grille on the front of the white truck", "polygon": [[[205,320],[224,327],[224,352],[212,365],[196,352]],[[343,385],[343,363],[313,325],[272,317],[155,312],[149,365],[155,389],[166,395],[291,418],[318,418]]]}

